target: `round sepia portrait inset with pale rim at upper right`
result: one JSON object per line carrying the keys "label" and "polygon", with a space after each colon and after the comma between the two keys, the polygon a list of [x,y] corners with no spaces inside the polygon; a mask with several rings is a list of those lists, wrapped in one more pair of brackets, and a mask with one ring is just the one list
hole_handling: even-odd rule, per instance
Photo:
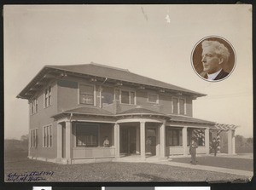
{"label": "round sepia portrait inset with pale rim at upper right", "polygon": [[191,63],[199,77],[211,82],[228,78],[236,66],[236,53],[223,37],[205,37],[195,44]]}

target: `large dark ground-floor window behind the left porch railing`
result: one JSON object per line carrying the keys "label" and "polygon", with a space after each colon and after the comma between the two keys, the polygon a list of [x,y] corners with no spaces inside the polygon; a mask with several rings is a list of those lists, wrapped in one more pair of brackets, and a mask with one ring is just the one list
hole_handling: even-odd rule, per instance
{"label": "large dark ground-floor window behind the left porch railing", "polygon": [[98,125],[76,124],[77,147],[98,146]]}

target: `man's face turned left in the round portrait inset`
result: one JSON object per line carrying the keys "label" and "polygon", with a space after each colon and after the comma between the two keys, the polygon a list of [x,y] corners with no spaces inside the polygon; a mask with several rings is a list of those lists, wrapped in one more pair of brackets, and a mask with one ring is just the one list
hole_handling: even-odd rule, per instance
{"label": "man's face turned left in the round portrait inset", "polygon": [[204,72],[212,74],[214,72],[218,72],[221,69],[220,64],[223,62],[223,59],[219,58],[218,55],[215,54],[212,46],[204,47],[201,56],[201,62]]}

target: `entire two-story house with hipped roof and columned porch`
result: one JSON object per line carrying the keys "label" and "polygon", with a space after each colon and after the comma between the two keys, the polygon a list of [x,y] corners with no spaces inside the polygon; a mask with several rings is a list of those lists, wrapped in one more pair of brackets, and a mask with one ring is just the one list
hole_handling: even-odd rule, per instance
{"label": "entire two-story house with hipped roof and columned porch", "polygon": [[[204,94],[95,63],[44,66],[18,98],[30,103],[29,158],[62,164],[209,153],[214,123],[192,117]],[[108,137],[108,145],[103,142]]]}

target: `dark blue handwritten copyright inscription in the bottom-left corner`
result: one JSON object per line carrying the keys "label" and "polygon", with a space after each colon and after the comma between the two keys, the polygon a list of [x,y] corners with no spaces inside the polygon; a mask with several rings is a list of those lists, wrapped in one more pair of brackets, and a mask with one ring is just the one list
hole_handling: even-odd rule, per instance
{"label": "dark blue handwritten copyright inscription in the bottom-left corner", "polygon": [[7,181],[12,182],[32,182],[32,181],[46,181],[45,176],[53,176],[53,171],[32,171],[24,174],[9,173]]}

